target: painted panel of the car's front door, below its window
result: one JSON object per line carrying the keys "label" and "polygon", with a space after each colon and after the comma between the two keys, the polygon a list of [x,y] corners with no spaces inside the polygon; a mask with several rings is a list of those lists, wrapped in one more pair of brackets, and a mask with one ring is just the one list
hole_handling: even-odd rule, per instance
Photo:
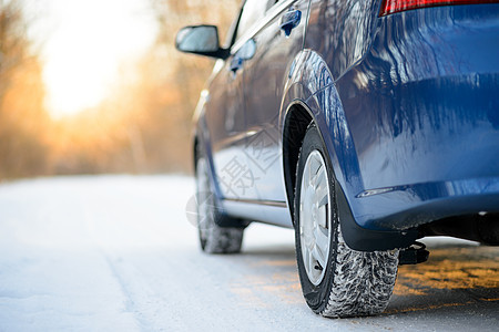
{"label": "painted panel of the car's front door, below its window", "polygon": [[[240,15],[228,34],[228,45],[236,38]],[[210,136],[215,185],[225,199],[256,197],[252,173],[246,165],[243,76],[233,70],[237,55],[231,53],[214,66],[207,95],[204,97],[204,121]]]}

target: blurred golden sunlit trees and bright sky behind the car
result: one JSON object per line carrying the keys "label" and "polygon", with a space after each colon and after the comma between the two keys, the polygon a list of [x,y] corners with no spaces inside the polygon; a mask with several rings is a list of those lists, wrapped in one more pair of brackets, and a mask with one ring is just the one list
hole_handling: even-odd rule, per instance
{"label": "blurred golden sunlit trees and bright sky behind the car", "polygon": [[[191,170],[213,60],[175,50],[240,0],[0,0],[0,181]],[[1,330],[1,329],[0,329]]]}

